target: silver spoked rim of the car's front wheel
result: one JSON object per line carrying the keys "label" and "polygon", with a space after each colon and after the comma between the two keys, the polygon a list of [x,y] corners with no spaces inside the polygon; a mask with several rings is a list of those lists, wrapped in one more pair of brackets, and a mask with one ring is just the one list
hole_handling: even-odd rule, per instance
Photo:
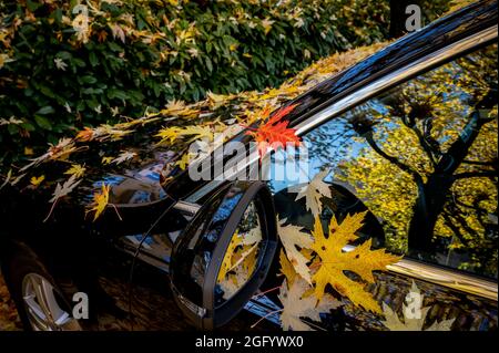
{"label": "silver spoked rim of the car's front wheel", "polygon": [[[64,305],[59,291],[44,277],[28,273],[22,280],[22,299],[34,331],[79,331],[80,324]],[[62,308],[61,308],[62,303]]]}

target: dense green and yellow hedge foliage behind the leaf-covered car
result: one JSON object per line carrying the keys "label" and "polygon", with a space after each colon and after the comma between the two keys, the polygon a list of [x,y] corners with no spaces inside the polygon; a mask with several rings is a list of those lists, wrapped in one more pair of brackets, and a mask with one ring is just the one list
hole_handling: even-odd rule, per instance
{"label": "dense green and yellow hedge foliage behind the leaf-covered car", "polygon": [[388,1],[370,0],[85,0],[86,17],[78,3],[0,3],[0,164],[172,100],[277,86],[384,40],[389,19]]}

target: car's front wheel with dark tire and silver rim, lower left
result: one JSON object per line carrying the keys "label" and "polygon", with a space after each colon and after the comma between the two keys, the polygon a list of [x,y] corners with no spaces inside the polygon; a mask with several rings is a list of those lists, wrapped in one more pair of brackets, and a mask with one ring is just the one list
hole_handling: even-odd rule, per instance
{"label": "car's front wheel with dark tire and silver rim, lower left", "polygon": [[6,282],[27,331],[80,331],[72,308],[40,258],[26,245],[4,259]]}

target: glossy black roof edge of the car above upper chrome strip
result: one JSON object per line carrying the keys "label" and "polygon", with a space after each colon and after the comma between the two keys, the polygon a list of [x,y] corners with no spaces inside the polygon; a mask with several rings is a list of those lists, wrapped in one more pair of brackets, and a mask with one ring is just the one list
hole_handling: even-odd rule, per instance
{"label": "glossy black roof edge of the car above upper chrome strip", "polygon": [[378,77],[497,22],[497,1],[479,1],[400,38],[288,102],[288,105],[296,104],[296,108],[287,115],[291,126]]}

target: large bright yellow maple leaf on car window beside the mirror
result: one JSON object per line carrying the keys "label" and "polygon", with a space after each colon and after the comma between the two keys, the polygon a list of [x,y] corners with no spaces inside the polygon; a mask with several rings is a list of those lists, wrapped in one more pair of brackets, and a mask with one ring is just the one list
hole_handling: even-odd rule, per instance
{"label": "large bright yellow maple leaf on car window beside the mirror", "polygon": [[381,309],[373,294],[367,292],[364,283],[355,281],[345,274],[345,271],[358,274],[363,280],[374,283],[373,271],[385,270],[388,264],[397,262],[400,258],[385,252],[385,249],[370,250],[371,239],[365,241],[352,251],[343,251],[345,246],[358,237],[355,232],[363,227],[365,212],[353,217],[347,216],[338,225],[333,216],[329,224],[329,236],[325,238],[323,226],[318,217],[314,225],[314,243],[312,249],[320,258],[320,267],[312,277],[315,283],[315,295],[320,299],[327,284],[330,284],[339,294],[348,298],[355,305],[360,305],[375,313]]}

